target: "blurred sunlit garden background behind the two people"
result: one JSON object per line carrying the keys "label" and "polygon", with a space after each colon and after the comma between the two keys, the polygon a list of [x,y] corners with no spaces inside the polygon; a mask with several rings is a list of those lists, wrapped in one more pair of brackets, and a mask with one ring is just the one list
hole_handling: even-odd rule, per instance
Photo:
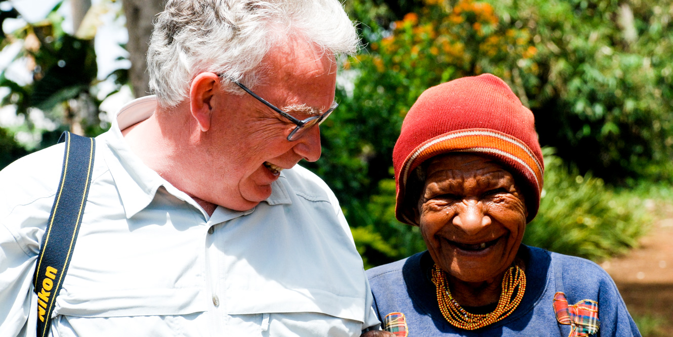
{"label": "blurred sunlit garden background behind the two people", "polygon": [[[323,156],[367,268],[425,249],[394,219],[392,147],[423,90],[493,73],[536,116],[545,184],[526,244],[590,258],[644,336],[673,330],[673,2],[348,0]],[[96,136],[147,94],[160,0],[0,1],[0,168],[64,130]],[[129,19],[127,14],[131,13]],[[131,29],[127,29],[131,27]],[[1,189],[1,186],[0,186]]]}

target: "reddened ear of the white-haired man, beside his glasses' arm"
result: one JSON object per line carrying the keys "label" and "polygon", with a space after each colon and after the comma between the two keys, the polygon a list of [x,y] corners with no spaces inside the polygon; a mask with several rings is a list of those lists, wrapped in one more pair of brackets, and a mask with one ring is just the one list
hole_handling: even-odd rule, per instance
{"label": "reddened ear of the white-haired man, beside his glasses' arm", "polygon": [[211,102],[217,90],[219,90],[219,77],[214,73],[200,73],[192,80],[189,89],[190,110],[203,132],[209,130],[211,126],[213,116]]}

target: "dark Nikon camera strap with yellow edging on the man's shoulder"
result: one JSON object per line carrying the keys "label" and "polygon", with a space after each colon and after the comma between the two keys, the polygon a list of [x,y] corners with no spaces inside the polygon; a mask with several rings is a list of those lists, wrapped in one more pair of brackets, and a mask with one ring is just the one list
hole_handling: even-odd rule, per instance
{"label": "dark Nikon camera strap with yellow edging on the man's shoulder", "polygon": [[47,336],[51,326],[54,303],[63,286],[63,277],[68,272],[94,169],[96,144],[93,138],[65,132],[59,143],[64,141],[59,189],[42,237],[33,278],[38,295],[38,337]]}

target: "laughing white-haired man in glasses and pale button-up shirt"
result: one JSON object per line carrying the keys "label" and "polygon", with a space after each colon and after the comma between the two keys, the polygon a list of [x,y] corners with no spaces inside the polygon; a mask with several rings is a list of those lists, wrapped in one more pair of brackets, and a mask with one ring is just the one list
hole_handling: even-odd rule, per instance
{"label": "laughing white-haired man in glasses and pale button-up shirt", "polygon": [[335,55],[357,42],[336,0],[168,1],[147,57],[156,96],[96,137],[57,294],[52,280],[36,294],[32,280],[64,147],[0,173],[0,335],[35,336],[50,317],[53,336],[359,336],[378,326],[334,194],[295,165],[320,157]]}

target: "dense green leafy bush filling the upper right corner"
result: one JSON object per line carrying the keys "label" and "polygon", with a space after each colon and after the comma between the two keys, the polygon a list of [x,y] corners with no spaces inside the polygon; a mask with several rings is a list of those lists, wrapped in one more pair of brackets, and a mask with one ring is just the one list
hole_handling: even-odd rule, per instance
{"label": "dense green leafy bush filling the upper right corner", "polygon": [[671,178],[670,1],[491,3],[533,36],[522,83],[543,145],[610,182]]}

